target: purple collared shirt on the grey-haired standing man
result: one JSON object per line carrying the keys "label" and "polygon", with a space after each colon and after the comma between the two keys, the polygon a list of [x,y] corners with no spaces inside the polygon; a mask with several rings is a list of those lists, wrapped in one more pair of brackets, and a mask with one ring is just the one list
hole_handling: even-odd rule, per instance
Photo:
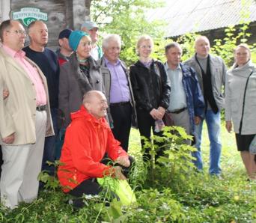
{"label": "purple collared shirt on the grey-haired standing man", "polygon": [[121,61],[112,64],[105,57],[104,60],[111,74],[110,103],[129,102],[128,80]]}

